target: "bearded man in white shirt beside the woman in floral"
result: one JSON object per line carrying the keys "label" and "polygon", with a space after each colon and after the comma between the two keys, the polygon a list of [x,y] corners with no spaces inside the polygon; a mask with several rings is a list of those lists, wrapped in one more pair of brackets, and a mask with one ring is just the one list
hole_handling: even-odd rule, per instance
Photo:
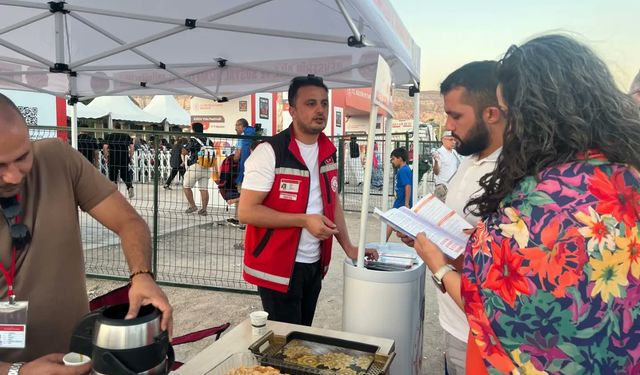
{"label": "bearded man in white shirt beside the woman in floral", "polygon": [[[470,224],[481,218],[465,210],[467,202],[479,194],[479,181],[495,169],[502,150],[505,118],[498,107],[495,61],[477,61],[451,73],[440,85],[447,113],[446,127],[457,142],[462,156],[460,168],[449,182],[446,205]],[[413,241],[398,234],[404,243]],[[451,260],[455,269],[462,267],[462,256]],[[436,272],[439,273],[439,272]],[[464,375],[469,323],[456,303],[446,293],[436,292],[440,325],[444,329],[445,369],[449,375]]]}

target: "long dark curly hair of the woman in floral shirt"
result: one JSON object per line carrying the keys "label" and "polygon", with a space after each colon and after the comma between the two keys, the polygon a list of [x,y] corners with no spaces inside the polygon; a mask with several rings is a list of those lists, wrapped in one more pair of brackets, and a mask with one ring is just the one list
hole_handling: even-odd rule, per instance
{"label": "long dark curly hair of the woman in floral shirt", "polygon": [[[471,199],[475,215],[495,212],[522,178],[598,149],[640,169],[640,113],[605,63],[572,38],[547,35],[512,46],[498,67],[506,104],[504,146]],[[474,207],[475,206],[475,207]]]}

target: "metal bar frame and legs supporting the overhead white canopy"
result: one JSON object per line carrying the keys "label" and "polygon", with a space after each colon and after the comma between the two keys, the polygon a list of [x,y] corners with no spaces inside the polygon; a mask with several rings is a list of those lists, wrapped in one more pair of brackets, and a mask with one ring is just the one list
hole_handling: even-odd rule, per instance
{"label": "metal bar frame and legs supporting the overhead white canopy", "polygon": [[[65,3],[64,1],[52,1],[49,3],[38,3],[38,2],[30,2],[30,1],[21,1],[21,0],[0,0],[0,5],[7,5],[7,6],[16,6],[16,7],[26,7],[26,8],[34,8],[34,9],[43,9],[44,12],[36,14],[26,20],[22,20],[19,22],[16,22],[13,25],[9,25],[7,27],[4,27],[2,29],[0,29],[0,36],[2,34],[8,33],[10,31],[19,29],[21,27],[24,26],[28,26],[30,24],[33,24],[35,22],[41,21],[43,19],[46,19],[50,16],[54,17],[54,28],[55,28],[55,55],[56,55],[56,61],[49,61],[48,59],[44,58],[43,56],[39,56],[35,53],[29,52],[28,50],[21,48],[20,46],[17,46],[15,44],[12,44],[10,42],[7,42],[6,40],[3,40],[2,38],[0,38],[0,46],[3,46],[5,48],[8,48],[20,55],[23,55],[27,58],[30,58],[34,61],[39,62],[40,66],[38,66],[37,64],[33,64],[31,62],[26,62],[26,61],[21,61],[19,59],[10,59],[10,58],[3,58],[2,60],[4,61],[13,61],[15,63],[20,63],[20,64],[24,64],[27,66],[32,66],[32,67],[36,67],[36,68],[41,68],[42,71],[33,71],[32,74],[38,74],[38,73],[60,73],[60,74],[67,74],[69,76],[69,91],[68,91],[68,102],[70,105],[74,105],[74,111],[73,111],[73,117],[72,117],[72,129],[71,129],[71,138],[72,138],[72,145],[74,147],[77,147],[77,135],[78,135],[78,129],[77,129],[77,109],[75,109],[75,103],[78,102],[78,100],[86,100],[86,99],[92,99],[96,96],[84,96],[82,98],[78,97],[78,92],[77,92],[77,75],[79,72],[81,72],[81,74],[83,75],[87,75],[87,76],[91,76],[91,77],[95,77],[96,75],[94,73],[91,73],[91,71],[97,71],[98,68],[101,70],[115,70],[115,69],[127,69],[127,70],[140,70],[140,69],[149,69],[149,68],[154,68],[154,69],[161,69],[161,70],[165,70],[167,71],[169,74],[171,74],[173,76],[172,79],[168,80],[168,81],[164,81],[164,82],[170,82],[172,80],[182,80],[186,83],[188,83],[189,85],[198,88],[199,90],[202,91],[202,94],[198,94],[197,96],[201,96],[201,97],[205,97],[208,99],[213,99],[215,101],[218,102],[225,102],[228,101],[229,99],[235,99],[238,97],[242,97],[244,95],[250,94],[250,93],[254,93],[254,92],[261,92],[261,91],[272,91],[272,90],[276,90],[279,88],[285,88],[290,79],[293,77],[293,74],[291,75],[287,75],[286,73],[283,72],[277,72],[271,69],[265,69],[265,68],[257,68],[255,66],[252,66],[250,64],[235,64],[232,61],[227,61],[224,58],[219,58],[217,59],[216,62],[205,62],[202,65],[199,64],[175,64],[172,66],[167,66],[165,63],[163,63],[162,61],[159,61],[155,58],[153,58],[152,56],[140,51],[137,49],[137,47],[146,45],[148,43],[154,42],[156,40],[159,39],[163,39],[166,38],[168,36],[171,35],[175,35],[178,33],[182,33],[184,31],[188,31],[188,30],[192,30],[194,28],[205,28],[205,29],[214,29],[214,30],[222,30],[222,31],[230,31],[230,32],[236,32],[236,33],[247,33],[247,34],[253,34],[253,35],[263,35],[263,36],[271,36],[271,37],[278,37],[278,38],[283,38],[283,39],[298,39],[298,40],[306,40],[306,41],[310,41],[310,42],[324,42],[324,43],[339,43],[339,44],[344,44],[346,43],[348,46],[350,47],[355,47],[355,48],[361,48],[361,47],[375,47],[378,45],[381,45],[381,43],[377,42],[377,41],[372,41],[372,40],[368,40],[365,39],[365,36],[362,34],[362,32],[360,31],[360,28],[358,27],[358,25],[356,25],[356,22],[353,20],[353,18],[349,15],[345,5],[344,5],[344,0],[335,0],[335,3],[338,7],[338,9],[340,10],[340,13],[342,14],[342,16],[345,19],[346,24],[348,25],[349,29],[351,30],[351,34],[349,35],[346,39],[343,38],[339,38],[339,37],[333,37],[333,36],[327,36],[327,35],[320,35],[320,34],[314,34],[314,33],[305,33],[305,32],[294,32],[294,31],[281,31],[281,30],[276,30],[276,29],[268,29],[268,28],[257,28],[257,27],[246,27],[246,26],[236,26],[236,25],[229,25],[229,24],[223,24],[223,23],[218,23],[216,22],[217,20],[220,20],[222,18],[234,15],[234,14],[238,14],[241,13],[243,11],[247,11],[249,9],[253,9],[256,8],[262,4],[271,2],[272,0],[253,0],[250,1],[248,3],[245,4],[241,4],[235,7],[232,7],[230,9],[227,9],[225,11],[222,12],[218,12],[212,15],[208,15],[205,16],[201,19],[179,19],[179,18],[171,18],[171,17],[159,17],[159,16],[150,16],[150,15],[145,15],[145,14],[139,14],[139,13],[130,13],[130,12],[118,12],[118,11],[111,11],[111,10],[104,10],[104,9],[96,9],[96,8],[91,8],[91,7],[85,7],[85,6],[77,6],[77,5],[72,5],[72,4],[68,4]],[[154,22],[154,23],[159,23],[159,24],[165,24],[165,25],[174,25],[175,27],[170,28],[168,30],[164,30],[161,32],[158,32],[156,34],[144,37],[144,38],[140,38],[138,40],[132,41],[132,42],[125,42],[124,40],[116,37],[115,35],[113,35],[112,33],[110,33],[109,31],[103,29],[102,27],[96,25],[95,23],[89,21],[88,19],[86,19],[85,17],[83,17],[81,15],[81,13],[87,13],[87,14],[97,14],[97,15],[103,15],[103,16],[111,16],[111,17],[116,17],[116,18],[125,18],[125,19],[134,19],[134,20],[139,20],[139,21],[148,21],[148,22]],[[73,17],[75,20],[83,23],[84,25],[88,26],[89,28],[93,29],[94,31],[98,32],[99,34],[103,35],[104,37],[116,42],[117,44],[119,44],[119,46],[114,47],[114,48],[110,48],[106,51],[97,53],[93,56],[89,56],[86,57],[82,60],[79,61],[75,61],[73,63],[71,63],[70,61],[67,61],[67,59],[65,58],[65,27],[66,27],[66,18],[65,15],[69,15],[71,17]],[[98,61],[104,58],[108,58],[110,56],[114,56],[117,55],[119,53],[125,52],[125,51],[131,51],[137,55],[139,55],[140,57],[148,60],[150,62],[149,65],[144,64],[144,65],[128,65],[128,66],[114,66],[114,67],[105,67],[105,66],[101,66],[101,67],[96,67],[96,66],[87,66],[88,64],[90,64],[91,62],[94,61]],[[394,59],[393,56],[383,56],[387,61],[391,61]],[[373,65],[375,63],[365,63],[362,64],[361,67],[364,66],[369,66],[369,65]],[[196,72],[189,72],[189,73],[179,73],[178,71],[176,71],[175,69],[177,68],[181,68],[181,67],[193,67],[196,68]],[[198,84],[197,82],[195,82],[193,79],[190,79],[190,76],[193,76],[195,74],[200,74],[202,72],[207,72],[210,71],[212,69],[224,69],[225,67],[229,67],[229,66],[238,66],[238,67],[251,67],[252,69],[254,69],[255,71],[258,72],[264,72],[264,73],[269,73],[269,74],[277,74],[277,75],[281,75],[283,77],[283,80],[281,82],[277,82],[275,84],[270,84],[264,87],[260,87],[257,89],[253,89],[250,92],[244,92],[244,93],[238,93],[238,94],[234,94],[233,96],[230,97],[220,97],[219,96],[219,87],[220,87],[220,79],[219,82],[216,86],[216,91],[212,91],[210,89],[208,89],[207,87]],[[202,67],[203,69],[197,69],[198,67]],[[332,72],[328,72],[326,74],[323,75],[323,78],[328,81],[328,82],[335,82],[335,83],[341,83],[341,84],[345,84],[345,85],[349,85],[349,86],[353,86],[353,87],[362,87],[362,86],[367,86],[369,85],[369,82],[365,82],[365,81],[357,81],[357,80],[347,80],[347,79],[340,79],[340,78],[331,78],[332,76],[338,75],[344,71],[348,71],[348,70],[352,70],[354,68],[358,68],[358,65],[351,65],[347,68],[343,68],[343,69],[338,69]],[[30,73],[30,72],[26,72],[26,73]],[[30,73],[31,74],[31,73]],[[112,82],[117,82],[121,85],[124,85],[124,87],[118,88],[116,90],[112,90],[109,92],[104,93],[103,95],[115,95],[118,94],[120,92],[124,92],[124,91],[128,91],[132,88],[145,88],[145,89],[149,89],[150,91],[153,92],[166,92],[168,94],[186,94],[186,95],[194,95],[191,92],[185,92],[185,91],[181,91],[178,89],[169,89],[166,87],[160,87],[159,85],[162,84],[163,82],[156,82],[156,83],[147,83],[147,82],[130,82],[130,81],[126,81],[126,80],[121,80],[121,79],[115,79],[113,77],[100,77],[100,78],[104,78],[105,80],[109,80]],[[42,89],[42,88],[38,88],[38,87],[34,87],[32,85],[29,84],[25,84],[19,81],[16,81],[14,79],[12,79],[10,77],[9,74],[7,74],[7,76],[5,76],[4,74],[0,74],[0,81],[5,81],[14,85],[18,85],[21,87],[25,87],[29,90],[33,90],[33,91],[37,91],[37,92],[43,92],[46,94],[51,94],[51,95],[56,95],[56,93],[46,90],[46,89]],[[417,79],[414,79],[414,87],[418,87],[419,83],[417,81]],[[415,108],[416,110],[419,108],[419,96],[416,98],[416,104],[415,104]],[[417,113],[417,112],[416,112]],[[417,152],[417,144],[418,144],[418,123],[419,123],[419,113],[416,114],[416,118],[414,120],[414,152]],[[415,156],[414,156],[414,160]],[[414,180],[416,179],[416,175],[414,174]],[[414,195],[415,195],[415,191],[414,191]]]}

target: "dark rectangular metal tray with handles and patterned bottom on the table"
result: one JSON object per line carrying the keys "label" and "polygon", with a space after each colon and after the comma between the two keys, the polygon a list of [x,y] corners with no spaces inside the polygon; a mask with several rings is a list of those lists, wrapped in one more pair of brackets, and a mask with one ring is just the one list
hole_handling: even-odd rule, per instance
{"label": "dark rectangular metal tray with handles and patterned bottom on the table", "polygon": [[[322,355],[314,360],[313,353],[300,354],[308,357],[309,361],[302,360],[302,357],[298,357],[300,361],[292,361],[290,357],[287,358],[286,351],[293,345],[298,348],[304,347],[305,350],[315,353],[324,353],[322,355],[338,360],[341,367],[330,367],[338,366],[336,362],[333,365],[327,365],[326,362],[319,361]],[[395,353],[378,354],[377,346],[297,331],[287,336],[277,336],[269,331],[253,343],[249,350],[256,355],[261,365],[272,366],[291,375],[328,375],[343,371],[359,375],[384,375],[387,374],[395,357]],[[352,359],[351,362],[349,357]]]}

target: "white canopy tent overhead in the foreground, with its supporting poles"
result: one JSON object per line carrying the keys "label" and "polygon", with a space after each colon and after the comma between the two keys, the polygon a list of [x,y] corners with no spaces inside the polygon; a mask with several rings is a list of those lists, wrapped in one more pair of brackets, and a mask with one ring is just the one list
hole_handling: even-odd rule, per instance
{"label": "white canopy tent overhead in the foreground, with its supporting poles", "polygon": [[388,0],[0,0],[0,88],[70,103],[153,94],[226,101],[284,91],[306,74],[330,88],[370,87],[378,55],[396,87],[419,91],[420,49]]}

